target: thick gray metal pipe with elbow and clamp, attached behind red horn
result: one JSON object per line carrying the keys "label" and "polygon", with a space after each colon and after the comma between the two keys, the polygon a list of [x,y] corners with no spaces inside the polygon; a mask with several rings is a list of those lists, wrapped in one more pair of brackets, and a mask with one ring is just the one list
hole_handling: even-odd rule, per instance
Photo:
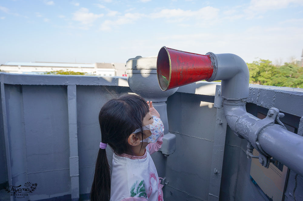
{"label": "thick gray metal pipe with elbow and clamp, attached behind red horn", "polygon": [[286,130],[276,108],[268,111],[265,119],[246,112],[249,96],[249,70],[245,61],[235,54],[207,53],[214,72],[207,81],[222,80],[221,96],[226,121],[234,133],[245,138],[259,151],[260,163],[268,168],[274,157],[291,170],[303,176],[303,137]]}

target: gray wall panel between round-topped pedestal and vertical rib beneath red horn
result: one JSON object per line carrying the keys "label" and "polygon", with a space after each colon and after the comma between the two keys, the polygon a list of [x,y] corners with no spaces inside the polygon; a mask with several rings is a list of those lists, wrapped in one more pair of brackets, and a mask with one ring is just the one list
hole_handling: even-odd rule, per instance
{"label": "gray wall panel between round-topped pedestal and vertical rib beneath red horn", "polygon": [[217,109],[207,102],[214,96],[176,92],[168,97],[169,132],[177,144],[167,160],[164,200],[208,199]]}

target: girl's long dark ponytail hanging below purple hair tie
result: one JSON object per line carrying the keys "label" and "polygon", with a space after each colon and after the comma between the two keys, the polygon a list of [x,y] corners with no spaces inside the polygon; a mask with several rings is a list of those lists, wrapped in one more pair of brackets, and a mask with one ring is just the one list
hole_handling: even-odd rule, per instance
{"label": "girl's long dark ponytail hanging below purple hair tie", "polygon": [[105,149],[99,149],[95,176],[89,196],[90,201],[109,201],[111,192],[111,170]]}

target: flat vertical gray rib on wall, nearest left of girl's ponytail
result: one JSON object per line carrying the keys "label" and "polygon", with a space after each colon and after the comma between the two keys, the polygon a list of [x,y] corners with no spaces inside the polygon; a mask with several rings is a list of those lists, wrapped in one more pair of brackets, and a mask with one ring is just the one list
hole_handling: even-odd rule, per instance
{"label": "flat vertical gray rib on wall, nearest left of girl's ponytail", "polygon": [[76,85],[67,86],[68,131],[69,131],[69,174],[71,177],[72,201],[79,200],[79,157],[77,133],[77,94]]}

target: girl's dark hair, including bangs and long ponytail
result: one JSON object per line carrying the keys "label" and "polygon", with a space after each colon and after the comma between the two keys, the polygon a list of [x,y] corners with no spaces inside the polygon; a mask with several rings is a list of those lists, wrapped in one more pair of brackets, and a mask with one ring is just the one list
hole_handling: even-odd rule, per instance
{"label": "girl's dark hair, including bangs and long ponytail", "polygon": [[[102,143],[107,143],[117,154],[133,155],[128,137],[137,128],[143,134],[143,118],[149,112],[146,101],[137,95],[123,95],[106,102],[99,113]],[[142,146],[142,144],[141,144]],[[105,149],[99,149],[95,167],[95,176],[90,193],[91,201],[109,201],[111,192],[111,170]]]}

